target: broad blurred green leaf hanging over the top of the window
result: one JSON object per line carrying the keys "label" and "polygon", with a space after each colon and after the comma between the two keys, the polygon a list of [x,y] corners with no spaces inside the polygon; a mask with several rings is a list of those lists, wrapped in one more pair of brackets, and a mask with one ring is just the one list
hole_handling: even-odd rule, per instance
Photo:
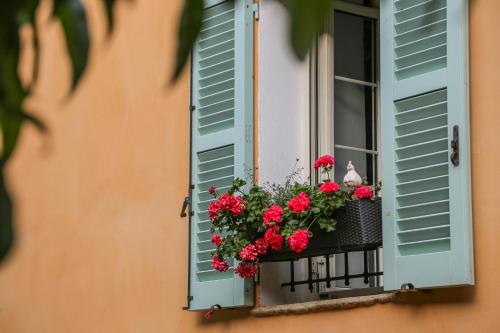
{"label": "broad blurred green leaf hanging over the top of the window", "polygon": [[289,0],[290,41],[298,59],[304,60],[314,40],[325,31],[335,0]]}

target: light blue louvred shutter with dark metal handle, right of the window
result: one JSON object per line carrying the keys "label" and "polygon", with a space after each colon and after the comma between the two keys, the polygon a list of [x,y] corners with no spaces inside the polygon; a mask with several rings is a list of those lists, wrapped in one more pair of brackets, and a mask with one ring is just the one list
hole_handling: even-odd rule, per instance
{"label": "light blue louvred shutter with dark metal handle, right of the window", "polygon": [[381,1],[386,290],[474,283],[467,12],[467,0]]}

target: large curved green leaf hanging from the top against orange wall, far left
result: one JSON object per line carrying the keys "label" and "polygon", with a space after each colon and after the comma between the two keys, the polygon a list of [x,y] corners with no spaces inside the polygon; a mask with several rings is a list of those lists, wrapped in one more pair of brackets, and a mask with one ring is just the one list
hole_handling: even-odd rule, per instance
{"label": "large curved green leaf hanging from the top against orange wall, far left", "polygon": [[54,0],[53,16],[60,20],[63,27],[73,69],[71,89],[74,91],[87,66],[89,55],[87,15],[80,0]]}

